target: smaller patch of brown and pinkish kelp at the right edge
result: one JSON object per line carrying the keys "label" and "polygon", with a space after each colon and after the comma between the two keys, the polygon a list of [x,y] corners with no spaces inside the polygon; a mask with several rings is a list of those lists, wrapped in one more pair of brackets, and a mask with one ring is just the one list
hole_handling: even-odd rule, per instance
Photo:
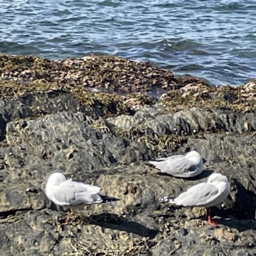
{"label": "smaller patch of brown and pinkish kelp at the right edge", "polygon": [[255,95],[255,80],[237,88],[232,86],[212,88],[204,84],[187,85],[180,90],[170,90],[164,93],[159,101],[159,106],[166,113],[174,113],[193,107],[248,113],[255,111]]}

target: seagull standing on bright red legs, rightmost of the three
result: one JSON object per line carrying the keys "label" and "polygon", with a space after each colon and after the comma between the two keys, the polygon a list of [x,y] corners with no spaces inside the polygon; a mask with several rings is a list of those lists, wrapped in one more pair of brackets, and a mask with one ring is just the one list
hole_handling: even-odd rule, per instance
{"label": "seagull standing on bright red legs, rightmost of the three", "polygon": [[180,194],[176,198],[164,196],[160,198],[161,203],[170,203],[176,205],[199,206],[206,208],[206,218],[210,225],[217,227],[217,223],[211,218],[209,207],[221,204],[230,193],[230,183],[225,175],[221,173],[212,173],[207,182],[197,184]]}

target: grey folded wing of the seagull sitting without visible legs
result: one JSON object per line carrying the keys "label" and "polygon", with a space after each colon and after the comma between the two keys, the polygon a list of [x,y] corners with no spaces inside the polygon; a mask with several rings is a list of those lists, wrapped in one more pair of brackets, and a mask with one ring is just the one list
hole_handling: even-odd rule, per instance
{"label": "grey folded wing of the seagull sitting without visible legs", "polygon": [[172,157],[161,162],[150,161],[149,163],[154,164],[161,172],[177,177],[189,177],[197,168],[195,164],[191,164],[191,161],[184,156]]}

